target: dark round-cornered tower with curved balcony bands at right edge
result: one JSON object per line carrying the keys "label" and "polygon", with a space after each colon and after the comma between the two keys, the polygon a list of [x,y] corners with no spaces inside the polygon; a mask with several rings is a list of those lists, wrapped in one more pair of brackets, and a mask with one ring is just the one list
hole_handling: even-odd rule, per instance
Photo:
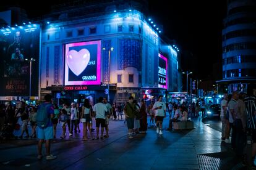
{"label": "dark round-cornered tower with curved balcony bands at right edge", "polygon": [[248,83],[256,82],[256,2],[229,0],[224,19],[223,79],[228,92],[245,92]]}

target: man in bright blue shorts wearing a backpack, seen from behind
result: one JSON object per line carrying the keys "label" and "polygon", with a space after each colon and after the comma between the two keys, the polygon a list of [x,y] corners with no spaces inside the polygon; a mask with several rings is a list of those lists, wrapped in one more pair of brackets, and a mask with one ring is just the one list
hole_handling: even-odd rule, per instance
{"label": "man in bright blue shorts wearing a backpack, seen from behind", "polygon": [[50,154],[50,140],[53,139],[53,123],[51,119],[54,118],[54,107],[51,104],[51,94],[45,95],[45,103],[38,107],[38,112],[36,115],[36,123],[38,128],[38,156],[37,158],[41,160],[42,158],[42,145],[45,140],[46,147],[46,160],[54,160],[57,156]]}

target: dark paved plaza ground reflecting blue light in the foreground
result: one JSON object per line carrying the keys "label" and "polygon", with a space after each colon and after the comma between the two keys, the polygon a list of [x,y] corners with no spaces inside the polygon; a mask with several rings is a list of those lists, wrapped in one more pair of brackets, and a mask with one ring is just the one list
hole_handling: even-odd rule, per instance
{"label": "dark paved plaza ground reflecting blue light in the foreground", "polygon": [[[168,123],[169,118],[165,118],[164,129],[167,129]],[[147,134],[137,134],[134,139],[128,139],[124,121],[110,121],[109,138],[104,141],[84,142],[80,140],[82,133],[71,139],[54,140],[51,151],[58,158],[51,161],[46,161],[45,157],[41,161],[36,160],[36,140],[12,141],[12,145],[1,144],[0,168],[239,169],[230,145],[221,143],[219,131],[198,119],[194,119],[194,127],[190,131],[164,130],[163,136],[158,136],[152,127]],[[31,144],[20,146],[19,143],[23,142]]]}

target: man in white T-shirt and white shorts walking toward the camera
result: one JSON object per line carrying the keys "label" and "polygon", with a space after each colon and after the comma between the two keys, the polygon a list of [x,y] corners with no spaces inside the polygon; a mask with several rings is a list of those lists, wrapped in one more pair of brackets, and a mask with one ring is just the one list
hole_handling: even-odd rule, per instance
{"label": "man in white T-shirt and white shorts walking toward the camera", "polygon": [[159,133],[160,135],[163,134],[163,119],[166,117],[166,105],[162,100],[163,95],[160,95],[158,101],[153,105],[156,119],[156,133]]}

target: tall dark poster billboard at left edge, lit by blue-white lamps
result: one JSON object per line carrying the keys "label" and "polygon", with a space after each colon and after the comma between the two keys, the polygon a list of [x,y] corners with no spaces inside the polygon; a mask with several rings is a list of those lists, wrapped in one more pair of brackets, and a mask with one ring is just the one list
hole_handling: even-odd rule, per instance
{"label": "tall dark poster billboard at left edge, lit by blue-white lamps", "polygon": [[0,96],[38,96],[40,25],[30,24],[0,31]]}

